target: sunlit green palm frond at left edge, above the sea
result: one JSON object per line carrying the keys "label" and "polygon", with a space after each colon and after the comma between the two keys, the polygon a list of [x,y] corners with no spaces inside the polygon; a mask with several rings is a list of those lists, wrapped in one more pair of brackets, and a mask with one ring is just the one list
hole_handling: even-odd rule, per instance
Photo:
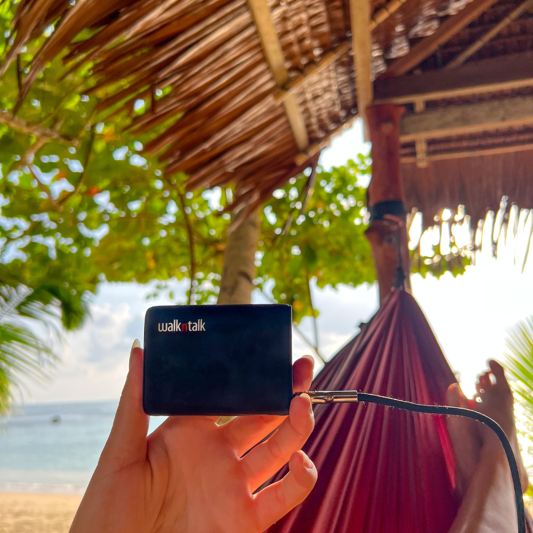
{"label": "sunlit green palm frond at left edge, above the sea", "polygon": [[56,361],[51,345],[34,332],[30,319],[55,329],[52,317],[60,317],[49,305],[30,300],[32,293],[23,285],[0,286],[0,413],[9,409],[24,377],[42,381]]}

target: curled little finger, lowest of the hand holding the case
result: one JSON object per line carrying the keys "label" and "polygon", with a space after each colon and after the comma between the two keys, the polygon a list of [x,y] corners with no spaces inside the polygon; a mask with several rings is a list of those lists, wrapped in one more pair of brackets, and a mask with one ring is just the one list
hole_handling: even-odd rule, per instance
{"label": "curled little finger, lowest of the hand holding the case", "polygon": [[317,469],[302,450],[290,457],[289,473],[255,496],[259,531],[264,531],[309,495],[317,482]]}

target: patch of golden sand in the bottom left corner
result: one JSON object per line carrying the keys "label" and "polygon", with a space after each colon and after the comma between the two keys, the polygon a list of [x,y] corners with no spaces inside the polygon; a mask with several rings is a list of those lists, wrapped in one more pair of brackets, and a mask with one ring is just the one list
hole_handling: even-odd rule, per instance
{"label": "patch of golden sand in the bottom left corner", "polygon": [[68,533],[82,496],[0,492],[0,533]]}

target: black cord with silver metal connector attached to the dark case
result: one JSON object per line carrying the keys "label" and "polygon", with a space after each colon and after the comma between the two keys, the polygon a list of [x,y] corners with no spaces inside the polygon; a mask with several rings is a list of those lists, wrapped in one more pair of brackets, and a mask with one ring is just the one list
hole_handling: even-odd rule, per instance
{"label": "black cord with silver metal connector attached to the dark case", "polygon": [[518,520],[518,533],[526,533],[526,514],[524,511],[524,502],[522,499],[522,484],[520,482],[520,474],[518,472],[518,465],[514,458],[513,449],[509,443],[507,436],[503,429],[492,420],[492,418],[478,413],[472,409],[463,409],[461,407],[450,407],[447,405],[423,405],[421,403],[413,403],[405,400],[397,400],[386,396],[379,396],[378,394],[367,394],[358,391],[308,391],[298,392],[295,395],[309,394],[312,403],[347,403],[347,402],[366,402],[377,403],[387,407],[395,407],[405,411],[414,411],[415,413],[427,413],[430,415],[455,415],[473,418],[478,422],[482,422],[490,427],[496,433],[498,439],[502,443],[507,462],[511,469],[513,477],[514,496],[516,500],[516,516]]}

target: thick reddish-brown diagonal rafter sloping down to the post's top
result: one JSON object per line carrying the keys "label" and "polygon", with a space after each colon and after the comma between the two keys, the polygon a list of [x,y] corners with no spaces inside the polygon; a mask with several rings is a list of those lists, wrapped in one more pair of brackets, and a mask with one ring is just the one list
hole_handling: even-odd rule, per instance
{"label": "thick reddish-brown diagonal rafter sloping down to the post's top", "polygon": [[459,13],[443,22],[434,34],[424,37],[410,52],[402,58],[395,60],[385,72],[385,76],[400,76],[417,66],[418,63],[429,57],[439,46],[449,41],[465,26],[477,19],[497,0],[473,0]]}

